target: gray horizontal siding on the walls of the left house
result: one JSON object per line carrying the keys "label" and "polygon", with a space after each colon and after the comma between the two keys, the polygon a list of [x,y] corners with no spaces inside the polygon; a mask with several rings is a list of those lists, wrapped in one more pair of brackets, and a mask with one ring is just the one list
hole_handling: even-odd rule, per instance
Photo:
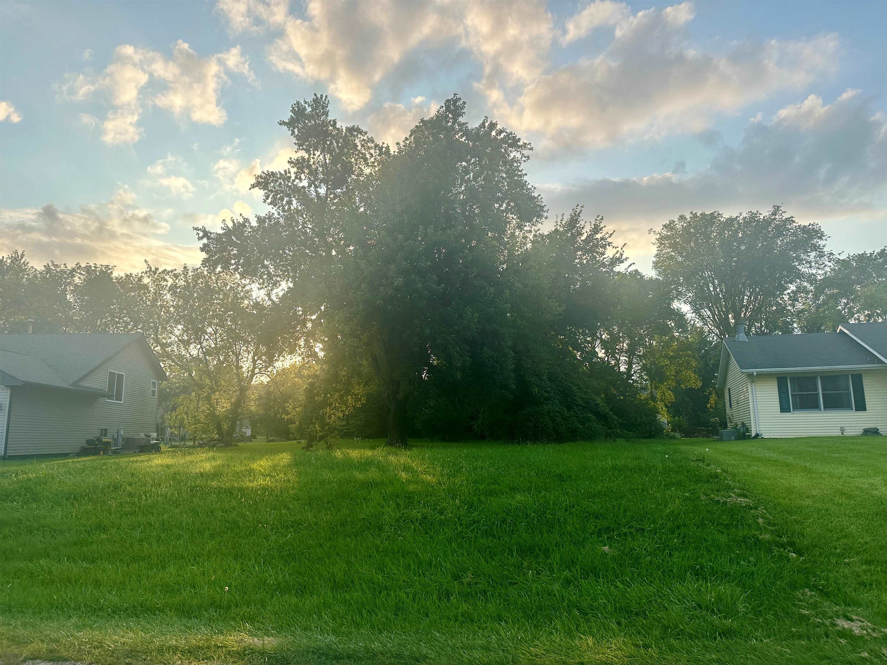
{"label": "gray horizontal siding on the walls of the left house", "polygon": [[[153,359],[140,344],[130,344],[90,372],[80,385],[98,388],[90,395],[75,390],[38,386],[13,388],[7,455],[44,455],[80,450],[86,439],[106,427],[108,434],[125,436],[153,432],[157,426],[157,398],[146,388],[157,379]],[[108,402],[108,372],[126,376],[122,403]]]}

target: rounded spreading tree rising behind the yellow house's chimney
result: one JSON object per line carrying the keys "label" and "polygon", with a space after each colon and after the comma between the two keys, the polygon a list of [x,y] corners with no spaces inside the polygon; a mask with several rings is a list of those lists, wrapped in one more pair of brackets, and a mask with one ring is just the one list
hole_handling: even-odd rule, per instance
{"label": "rounded spreading tree rising behind the yellow house's chimney", "polygon": [[653,268],[716,338],[789,332],[793,294],[826,264],[825,233],[780,206],[766,214],[690,213],[655,231]]}

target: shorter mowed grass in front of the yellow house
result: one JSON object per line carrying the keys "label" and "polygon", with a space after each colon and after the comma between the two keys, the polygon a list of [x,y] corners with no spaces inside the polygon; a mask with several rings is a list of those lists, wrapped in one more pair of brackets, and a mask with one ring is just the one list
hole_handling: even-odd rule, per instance
{"label": "shorter mowed grass in front of the yellow house", "polygon": [[[698,454],[701,444],[686,450]],[[707,453],[765,501],[815,560],[828,599],[887,625],[887,438],[820,437],[716,444]]]}

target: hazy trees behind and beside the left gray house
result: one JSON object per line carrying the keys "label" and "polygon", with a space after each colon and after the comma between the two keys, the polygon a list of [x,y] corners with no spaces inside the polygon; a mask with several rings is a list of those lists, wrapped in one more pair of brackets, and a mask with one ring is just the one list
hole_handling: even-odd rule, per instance
{"label": "hazy trees behind and beside the left gray house", "polygon": [[141,332],[170,380],[170,425],[231,441],[255,382],[294,350],[277,304],[231,272],[205,268],[114,274],[114,267],[0,257],[0,332]]}

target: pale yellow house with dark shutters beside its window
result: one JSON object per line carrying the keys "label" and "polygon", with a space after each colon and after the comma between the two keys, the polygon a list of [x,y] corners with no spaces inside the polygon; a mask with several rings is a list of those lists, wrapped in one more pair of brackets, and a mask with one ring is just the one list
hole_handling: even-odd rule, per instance
{"label": "pale yellow house with dark shutters beside its window", "polygon": [[887,322],[746,336],[721,348],[728,426],[768,437],[887,434]]}

